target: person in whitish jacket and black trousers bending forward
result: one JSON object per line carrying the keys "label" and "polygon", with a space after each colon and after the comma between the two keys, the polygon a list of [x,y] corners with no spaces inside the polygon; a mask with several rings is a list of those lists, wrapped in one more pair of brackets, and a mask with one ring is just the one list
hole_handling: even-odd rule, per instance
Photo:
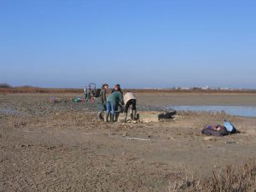
{"label": "person in whitish jacket and black trousers bending forward", "polygon": [[127,93],[125,93],[124,102],[125,102],[125,122],[127,119],[127,113],[130,106],[131,106],[131,119],[136,120],[136,113],[137,113],[136,98],[130,90],[128,90]]}

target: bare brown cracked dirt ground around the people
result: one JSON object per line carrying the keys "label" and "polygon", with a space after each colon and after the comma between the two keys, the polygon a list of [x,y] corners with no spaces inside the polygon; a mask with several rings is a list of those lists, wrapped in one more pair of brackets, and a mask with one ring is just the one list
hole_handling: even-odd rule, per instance
{"label": "bare brown cracked dirt ground around the people", "polygon": [[[256,118],[178,113],[170,122],[111,124],[96,121],[95,103],[49,96],[0,95],[0,191],[172,191],[187,174],[210,177],[256,157]],[[139,110],[256,106],[255,94],[141,93],[137,102]],[[203,125],[224,119],[240,133],[201,135]]]}

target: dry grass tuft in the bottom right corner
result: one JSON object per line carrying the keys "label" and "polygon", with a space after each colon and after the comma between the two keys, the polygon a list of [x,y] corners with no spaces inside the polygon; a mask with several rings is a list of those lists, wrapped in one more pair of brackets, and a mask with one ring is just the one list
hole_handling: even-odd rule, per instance
{"label": "dry grass tuft in the bottom right corner", "polygon": [[227,166],[224,172],[213,172],[212,177],[205,179],[185,176],[176,183],[170,183],[168,190],[176,192],[256,191],[256,160],[248,160],[241,166]]}

